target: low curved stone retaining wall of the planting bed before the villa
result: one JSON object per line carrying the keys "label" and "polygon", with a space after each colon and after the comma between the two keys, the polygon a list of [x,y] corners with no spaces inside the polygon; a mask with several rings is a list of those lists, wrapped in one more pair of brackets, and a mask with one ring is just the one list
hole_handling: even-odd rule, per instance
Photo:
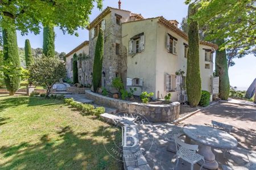
{"label": "low curved stone retaining wall of the planting bed before the villa", "polygon": [[142,104],[126,100],[114,99],[111,97],[96,94],[90,90],[85,91],[85,96],[96,104],[117,108],[118,112],[133,111],[142,114],[150,122],[172,122],[179,118],[180,103],[155,105]]}

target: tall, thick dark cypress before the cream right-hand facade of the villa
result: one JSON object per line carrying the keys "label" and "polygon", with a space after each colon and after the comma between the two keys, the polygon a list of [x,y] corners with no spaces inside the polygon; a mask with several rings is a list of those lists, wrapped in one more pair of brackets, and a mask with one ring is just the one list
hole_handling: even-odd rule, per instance
{"label": "tall, thick dark cypress before the cream right-hand facade of the villa", "polygon": [[196,107],[201,99],[201,77],[200,77],[200,63],[199,63],[199,27],[191,16],[196,13],[195,5],[188,7],[188,59],[187,59],[187,95],[188,103],[192,107]]}

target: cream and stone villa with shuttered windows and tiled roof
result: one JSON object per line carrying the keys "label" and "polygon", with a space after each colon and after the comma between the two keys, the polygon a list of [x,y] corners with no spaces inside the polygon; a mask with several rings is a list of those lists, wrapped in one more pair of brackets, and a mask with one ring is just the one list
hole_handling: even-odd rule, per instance
{"label": "cream and stone villa with shuttered windows and tiled roof", "polygon": [[[104,31],[102,87],[110,92],[112,80],[121,77],[126,89],[137,88],[134,95],[154,92],[154,99],[168,93],[172,101],[185,101],[188,35],[178,28],[176,20],[162,16],[143,18],[121,8],[107,7],[88,26],[89,41],[83,42],[66,56],[68,78],[72,80],[73,54],[89,56],[78,61],[79,83],[92,84],[92,68],[96,41]],[[213,77],[213,53],[218,46],[200,41],[202,90],[218,94],[218,78]]]}

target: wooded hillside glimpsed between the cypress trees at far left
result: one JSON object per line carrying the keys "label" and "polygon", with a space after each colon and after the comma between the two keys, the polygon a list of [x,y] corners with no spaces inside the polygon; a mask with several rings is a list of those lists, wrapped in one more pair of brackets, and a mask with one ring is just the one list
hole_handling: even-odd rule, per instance
{"label": "wooded hillside glimpsed between the cypress trees at far left", "polygon": [[[38,57],[42,57],[42,54],[43,54],[43,49],[42,48],[31,48],[32,49],[32,54],[34,56],[34,58],[38,58]],[[58,53],[58,52],[55,52],[55,56],[57,58],[60,58],[62,60],[64,60],[64,56],[66,55],[66,53],[64,52],[61,52],[61,53]],[[19,57],[20,57],[20,63],[22,65],[22,67],[25,67],[26,66],[26,62],[25,62],[25,50],[24,48],[19,48]]]}

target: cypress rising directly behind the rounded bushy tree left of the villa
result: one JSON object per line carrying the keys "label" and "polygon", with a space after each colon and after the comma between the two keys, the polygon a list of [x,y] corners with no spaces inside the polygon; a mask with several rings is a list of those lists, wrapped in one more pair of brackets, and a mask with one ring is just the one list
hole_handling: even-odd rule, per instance
{"label": "cypress rising directly behind the rounded bushy tree left of the villa", "polygon": [[55,57],[55,32],[54,27],[44,27],[43,31],[43,54],[47,57]]}

